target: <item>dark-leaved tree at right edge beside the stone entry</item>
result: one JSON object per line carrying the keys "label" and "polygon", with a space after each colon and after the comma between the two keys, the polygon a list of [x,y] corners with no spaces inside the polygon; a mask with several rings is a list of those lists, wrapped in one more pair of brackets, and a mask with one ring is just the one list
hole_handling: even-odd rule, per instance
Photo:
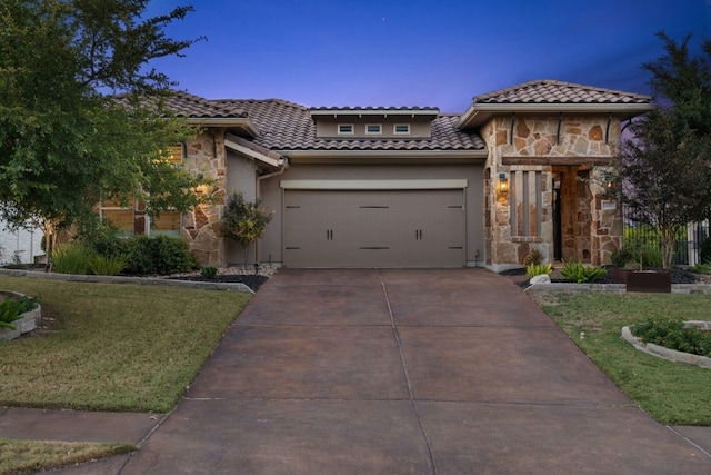
{"label": "dark-leaved tree at right edge beside the stone entry", "polygon": [[668,268],[677,232],[711,209],[711,41],[690,58],[690,37],[659,37],[665,55],[643,65],[657,107],[631,125],[621,174],[628,218],[659,230]]}

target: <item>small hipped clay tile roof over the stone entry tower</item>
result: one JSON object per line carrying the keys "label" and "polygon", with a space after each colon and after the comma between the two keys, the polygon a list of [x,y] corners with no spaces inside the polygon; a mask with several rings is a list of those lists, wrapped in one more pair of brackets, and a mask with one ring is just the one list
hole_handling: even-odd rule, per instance
{"label": "small hipped clay tile roof over the stone entry tower", "polygon": [[474,97],[482,103],[650,103],[649,96],[561,82],[549,79],[524,82]]}

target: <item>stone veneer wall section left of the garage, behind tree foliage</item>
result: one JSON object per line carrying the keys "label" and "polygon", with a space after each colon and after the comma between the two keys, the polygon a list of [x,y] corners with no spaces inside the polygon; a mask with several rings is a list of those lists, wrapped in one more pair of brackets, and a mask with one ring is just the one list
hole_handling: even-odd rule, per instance
{"label": "stone veneer wall section left of the garage, behind tree foliage", "polygon": [[204,131],[188,141],[183,165],[196,175],[202,174],[216,180],[216,185],[206,190],[216,201],[213,205],[198,206],[184,215],[181,235],[202,264],[224,266],[227,264],[226,244],[218,234],[227,186],[224,130],[216,130],[214,136],[210,131]]}

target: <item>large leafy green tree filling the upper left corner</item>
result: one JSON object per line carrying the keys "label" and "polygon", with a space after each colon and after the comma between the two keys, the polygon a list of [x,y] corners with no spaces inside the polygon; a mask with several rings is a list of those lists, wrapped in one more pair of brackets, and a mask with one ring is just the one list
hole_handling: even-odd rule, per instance
{"label": "large leafy green tree filling the upper left corner", "polygon": [[61,229],[93,216],[102,197],[140,198],[149,212],[200,201],[201,180],[166,157],[194,132],[162,107],[176,85],[148,67],[199,40],[163,31],[192,7],[144,19],[147,4],[0,4],[0,218]]}

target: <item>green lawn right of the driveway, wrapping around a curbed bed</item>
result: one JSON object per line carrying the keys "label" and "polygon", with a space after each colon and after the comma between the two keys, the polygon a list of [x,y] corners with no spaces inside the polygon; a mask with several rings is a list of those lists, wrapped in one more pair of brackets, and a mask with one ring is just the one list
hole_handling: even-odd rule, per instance
{"label": "green lawn right of the driveway, wrapping around a curbed bed", "polygon": [[711,425],[710,369],[643,354],[620,337],[623,326],[647,317],[711,320],[711,296],[544,293],[532,297],[654,419],[662,424]]}

